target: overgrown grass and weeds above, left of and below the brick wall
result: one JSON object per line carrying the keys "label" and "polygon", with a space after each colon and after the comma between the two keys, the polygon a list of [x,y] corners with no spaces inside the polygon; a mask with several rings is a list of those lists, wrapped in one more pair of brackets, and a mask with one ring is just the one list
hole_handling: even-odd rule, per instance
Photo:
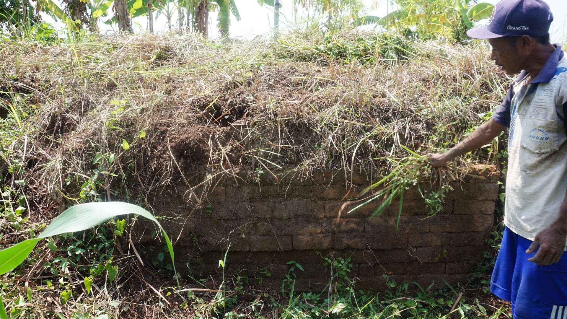
{"label": "overgrown grass and weeds above, left of and below the brick wall", "polygon": [[[37,236],[77,203],[124,200],[159,216],[163,194],[206,207],[210,186],[243,174],[307,179],[338,168],[379,179],[408,150],[418,158],[472,132],[506,82],[484,47],[390,33],[301,33],[275,44],[176,33],[7,37],[0,45],[0,247]],[[448,170],[496,153],[497,141]],[[410,178],[406,172],[397,177]],[[163,258],[153,270],[134,242],[117,237],[124,224],[36,247],[1,279],[10,316],[448,318],[459,298],[456,287],[415,295],[401,283],[361,292],[348,259],[337,259],[327,262],[338,277],[321,294],[294,293],[292,272],[281,294],[249,288],[241,276],[214,292],[182,287],[183,300]],[[474,297],[453,310],[500,316]]]}

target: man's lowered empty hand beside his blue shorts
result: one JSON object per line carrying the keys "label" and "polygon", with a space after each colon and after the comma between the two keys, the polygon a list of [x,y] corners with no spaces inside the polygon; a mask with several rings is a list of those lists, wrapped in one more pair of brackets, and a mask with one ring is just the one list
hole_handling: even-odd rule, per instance
{"label": "man's lowered empty hand beside his blue shorts", "polygon": [[[526,254],[531,254],[538,251],[534,257],[529,258],[528,261],[535,262],[540,266],[551,265],[556,263],[561,258],[565,251],[565,239],[567,235],[557,226],[551,225],[541,231],[535,237],[534,242],[530,245]],[[539,247],[539,249],[538,249]]]}

